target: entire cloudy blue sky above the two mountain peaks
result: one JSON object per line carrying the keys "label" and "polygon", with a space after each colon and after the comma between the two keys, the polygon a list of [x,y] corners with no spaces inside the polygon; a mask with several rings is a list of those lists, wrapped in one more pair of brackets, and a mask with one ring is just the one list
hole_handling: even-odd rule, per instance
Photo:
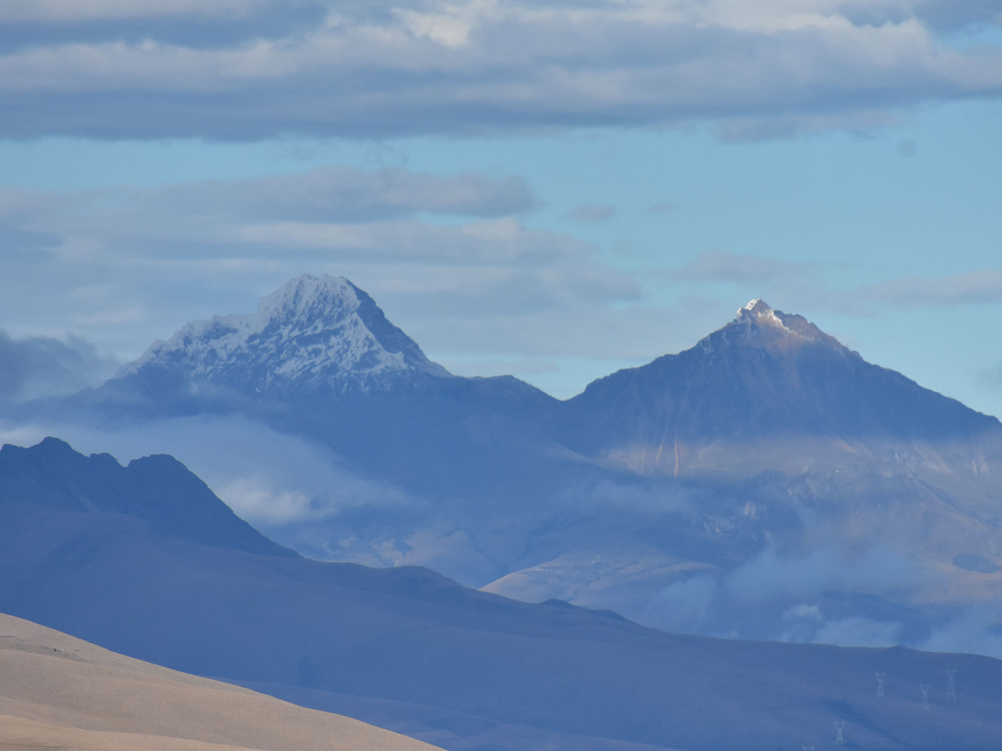
{"label": "entire cloudy blue sky above the two mountain peaks", "polygon": [[1002,2],[11,0],[0,397],[346,275],[554,396],[755,297],[1002,416]]}

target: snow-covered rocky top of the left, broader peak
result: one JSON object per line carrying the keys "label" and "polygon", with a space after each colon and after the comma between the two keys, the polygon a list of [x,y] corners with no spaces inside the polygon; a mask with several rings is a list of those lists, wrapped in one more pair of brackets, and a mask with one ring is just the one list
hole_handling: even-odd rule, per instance
{"label": "snow-covered rocky top of the left, broader peak", "polygon": [[116,379],[156,370],[265,393],[297,389],[382,390],[422,377],[449,378],[343,276],[305,274],[262,299],[258,310],[188,323],[156,341]]}

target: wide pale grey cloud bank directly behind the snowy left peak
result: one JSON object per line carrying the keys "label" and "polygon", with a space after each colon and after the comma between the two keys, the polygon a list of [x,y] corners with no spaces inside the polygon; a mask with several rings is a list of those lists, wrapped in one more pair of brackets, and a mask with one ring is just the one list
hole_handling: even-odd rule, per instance
{"label": "wide pale grey cloud bank directly behind the snowy left peak", "polygon": [[[0,190],[0,320],[135,356],[192,318],[253,309],[305,271],[346,275],[425,348],[504,359],[650,351],[677,311],[593,243],[533,229],[523,180],[324,167],[303,174]],[[639,325],[643,323],[644,325]],[[661,340],[663,341],[663,339]],[[645,347],[645,348],[644,348]]]}

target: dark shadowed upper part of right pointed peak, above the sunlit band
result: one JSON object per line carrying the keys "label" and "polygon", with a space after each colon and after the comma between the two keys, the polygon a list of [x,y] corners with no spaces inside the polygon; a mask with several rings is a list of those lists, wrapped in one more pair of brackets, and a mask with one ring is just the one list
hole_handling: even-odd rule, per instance
{"label": "dark shadowed upper part of right pointed peak, above the sunlit band", "polygon": [[627,463],[634,453],[639,468],[672,474],[676,448],[689,455],[678,457],[682,469],[720,442],[942,444],[1002,436],[995,418],[870,364],[804,317],[762,300],[691,349],[593,382],[562,412],[567,445]]}

